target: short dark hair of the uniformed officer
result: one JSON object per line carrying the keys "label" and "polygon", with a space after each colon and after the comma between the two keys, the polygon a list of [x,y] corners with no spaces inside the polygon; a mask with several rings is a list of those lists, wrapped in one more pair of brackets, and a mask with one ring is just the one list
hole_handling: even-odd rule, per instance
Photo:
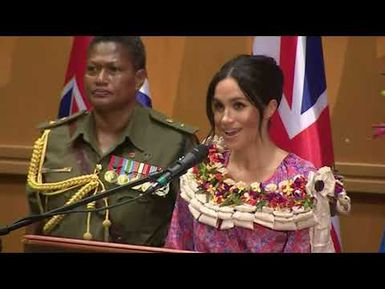
{"label": "short dark hair of the uniformed officer", "polygon": [[95,36],[88,45],[87,55],[98,43],[114,42],[126,48],[128,57],[134,65],[135,70],[146,68],[146,50],[139,36]]}

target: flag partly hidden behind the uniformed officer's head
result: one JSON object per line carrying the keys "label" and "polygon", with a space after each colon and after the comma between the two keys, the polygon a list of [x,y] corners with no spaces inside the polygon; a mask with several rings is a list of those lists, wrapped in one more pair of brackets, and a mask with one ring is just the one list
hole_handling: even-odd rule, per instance
{"label": "flag partly hidden behind the uniformed officer's head", "polygon": [[[75,36],[68,63],[65,84],[61,94],[59,118],[71,115],[77,111],[90,110],[83,77],[87,65],[87,47],[92,36]],[[138,102],[151,107],[151,95],[148,80],[146,79],[136,96]]]}

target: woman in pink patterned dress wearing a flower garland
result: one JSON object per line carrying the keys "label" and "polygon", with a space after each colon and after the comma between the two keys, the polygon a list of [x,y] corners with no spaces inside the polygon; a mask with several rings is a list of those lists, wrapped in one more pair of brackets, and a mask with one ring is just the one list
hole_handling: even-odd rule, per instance
{"label": "woman in pink patterned dress wearing a flower garland", "polygon": [[[269,122],[282,97],[273,58],[240,55],[207,92],[205,162],[181,178],[166,247],[200,252],[333,252],[329,200],[350,199],[330,168],[276,146]],[[337,185],[336,185],[337,184]]]}

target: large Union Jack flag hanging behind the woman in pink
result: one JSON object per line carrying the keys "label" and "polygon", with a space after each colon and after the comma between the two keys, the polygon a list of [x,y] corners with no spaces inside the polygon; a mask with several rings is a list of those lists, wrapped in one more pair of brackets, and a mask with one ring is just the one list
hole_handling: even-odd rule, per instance
{"label": "large Union Jack flag hanging behind the woman in pink", "polygon": [[[253,54],[274,57],[285,77],[282,101],[270,126],[273,141],[317,168],[333,166],[321,37],[257,36]],[[333,217],[331,236],[336,252],[340,252],[337,232],[338,217]]]}

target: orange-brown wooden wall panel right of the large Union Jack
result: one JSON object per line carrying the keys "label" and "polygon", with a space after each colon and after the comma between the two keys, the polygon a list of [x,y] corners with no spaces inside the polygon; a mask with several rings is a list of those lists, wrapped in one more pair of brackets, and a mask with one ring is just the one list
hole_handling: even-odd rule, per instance
{"label": "orange-brown wooden wall panel right of the large Union Jack", "polygon": [[[335,159],[385,164],[385,138],[372,139],[372,124],[385,122],[383,37],[325,37],[325,66]],[[380,51],[380,52],[379,52]],[[385,189],[384,191],[385,192]]]}

